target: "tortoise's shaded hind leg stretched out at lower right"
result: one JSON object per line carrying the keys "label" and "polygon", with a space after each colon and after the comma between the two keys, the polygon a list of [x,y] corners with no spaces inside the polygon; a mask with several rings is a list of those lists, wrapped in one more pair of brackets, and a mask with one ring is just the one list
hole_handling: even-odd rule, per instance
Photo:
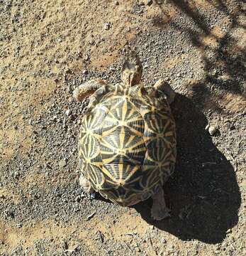
{"label": "tortoise's shaded hind leg stretched out at lower right", "polygon": [[160,188],[157,193],[152,196],[153,199],[153,206],[151,209],[151,217],[154,220],[162,220],[164,218],[170,217],[169,212],[171,211],[166,206],[166,202],[164,199],[164,192],[163,189]]}

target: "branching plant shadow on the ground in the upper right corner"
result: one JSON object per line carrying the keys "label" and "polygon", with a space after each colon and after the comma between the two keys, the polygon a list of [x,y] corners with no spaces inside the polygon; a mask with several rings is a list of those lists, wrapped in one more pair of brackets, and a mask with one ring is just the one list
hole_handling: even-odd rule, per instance
{"label": "branching plant shadow on the ground in the upper right corner", "polygon": [[[186,27],[173,19],[167,21],[168,12],[164,3],[158,5],[162,11],[162,16],[153,18],[152,23],[158,28],[164,29],[168,24],[168,26],[177,31],[185,32],[187,40],[199,49],[203,60],[205,76],[201,81],[192,85],[193,98],[196,102],[199,102],[201,105],[205,105],[208,101],[220,102],[220,98],[223,98],[223,95],[226,93],[241,95],[246,100],[246,45],[242,43],[242,46],[238,47],[237,39],[232,36],[236,29],[245,29],[245,26],[239,22],[240,15],[244,14],[241,6],[242,1],[237,2],[234,11],[228,9],[226,1],[206,0],[206,2],[222,11],[230,19],[227,31],[223,36],[218,36],[214,33],[207,24],[206,18],[199,14],[197,7],[195,5],[191,6],[193,1],[169,0],[169,3],[174,8],[179,9],[182,14],[191,18],[198,30]],[[206,37],[210,37],[213,40],[213,45],[204,43],[203,39]],[[216,93],[209,93],[211,88],[217,90]],[[201,95],[202,91],[206,91],[206,97]],[[215,105],[218,107],[218,104]]]}

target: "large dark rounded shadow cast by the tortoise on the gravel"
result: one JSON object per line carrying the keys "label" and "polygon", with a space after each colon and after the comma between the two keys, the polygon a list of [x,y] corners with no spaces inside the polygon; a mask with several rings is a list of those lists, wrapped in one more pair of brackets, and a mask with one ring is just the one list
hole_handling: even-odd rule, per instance
{"label": "large dark rounded shadow cast by the tortoise on the gravel", "polygon": [[172,112],[177,124],[177,164],[164,186],[172,202],[172,218],[153,221],[151,199],[134,208],[147,223],[181,240],[221,242],[237,224],[241,202],[233,166],[213,144],[205,130],[208,121],[191,100],[177,94]]}

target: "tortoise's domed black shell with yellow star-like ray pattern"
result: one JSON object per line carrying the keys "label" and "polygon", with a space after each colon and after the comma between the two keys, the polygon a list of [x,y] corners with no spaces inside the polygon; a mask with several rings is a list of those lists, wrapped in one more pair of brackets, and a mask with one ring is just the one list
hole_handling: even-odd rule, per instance
{"label": "tortoise's domed black shell with yellow star-like ray pattern", "polygon": [[133,205],[152,196],[172,174],[176,135],[165,100],[141,95],[138,85],[116,85],[82,123],[79,164],[105,198]]}

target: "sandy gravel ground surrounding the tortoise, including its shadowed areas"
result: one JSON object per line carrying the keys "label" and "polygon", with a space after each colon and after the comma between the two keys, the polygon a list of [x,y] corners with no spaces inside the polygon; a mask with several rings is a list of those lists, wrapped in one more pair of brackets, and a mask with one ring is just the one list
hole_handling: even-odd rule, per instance
{"label": "sandy gravel ground surrounding the tortoise, including its shadowed areas", "polygon": [[[0,255],[246,255],[244,2],[0,0]],[[142,82],[177,92],[160,222],[151,200],[122,208],[78,183],[72,91],[119,80],[126,46]]]}

